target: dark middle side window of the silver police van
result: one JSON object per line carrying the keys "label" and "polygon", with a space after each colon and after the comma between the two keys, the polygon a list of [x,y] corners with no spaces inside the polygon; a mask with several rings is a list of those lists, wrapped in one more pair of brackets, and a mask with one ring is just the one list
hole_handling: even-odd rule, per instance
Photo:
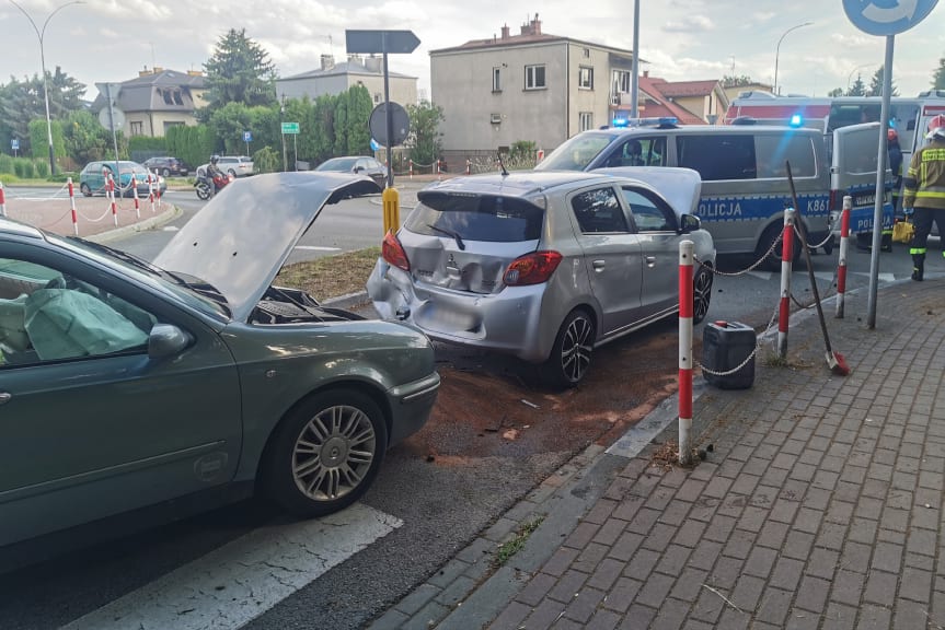
{"label": "dark middle side window of the silver police van", "polygon": [[698,171],[703,182],[754,179],[754,136],[710,133],[676,137],[679,166]]}

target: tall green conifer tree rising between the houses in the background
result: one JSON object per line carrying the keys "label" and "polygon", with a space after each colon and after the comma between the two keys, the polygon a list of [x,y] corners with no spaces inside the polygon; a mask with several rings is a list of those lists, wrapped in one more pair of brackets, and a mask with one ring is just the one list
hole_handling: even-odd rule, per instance
{"label": "tall green conifer tree rising between the houses in the background", "polygon": [[228,103],[251,107],[276,103],[276,68],[268,52],[246,37],[245,28],[230,28],[220,37],[204,70],[210,101],[199,112],[204,121]]}

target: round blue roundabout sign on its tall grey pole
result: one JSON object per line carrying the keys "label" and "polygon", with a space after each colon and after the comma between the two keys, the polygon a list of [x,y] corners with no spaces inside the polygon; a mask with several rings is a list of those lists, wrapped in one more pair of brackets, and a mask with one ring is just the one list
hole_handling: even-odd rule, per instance
{"label": "round blue roundabout sign on its tall grey pole", "polygon": [[879,148],[876,164],[876,205],[873,208],[873,252],[869,258],[869,298],[866,327],[876,327],[876,294],[879,290],[879,244],[883,240],[883,203],[886,191],[886,165],[889,162],[886,135],[889,130],[889,97],[892,92],[892,48],[898,33],[929,16],[938,0],[843,0],[843,11],[854,26],[869,35],[886,37],[883,66],[883,105],[879,109]]}

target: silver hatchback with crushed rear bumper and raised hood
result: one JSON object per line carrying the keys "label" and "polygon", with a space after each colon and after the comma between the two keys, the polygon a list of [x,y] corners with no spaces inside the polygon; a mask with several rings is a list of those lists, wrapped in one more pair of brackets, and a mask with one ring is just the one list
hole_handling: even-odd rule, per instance
{"label": "silver hatchback with crushed rear bumper and raised hood", "polygon": [[368,295],[429,337],[511,353],[553,387],[576,385],[595,347],[679,311],[679,244],[695,245],[694,319],[715,247],[699,174],[632,167],[457,177],[417,194],[384,237]]}

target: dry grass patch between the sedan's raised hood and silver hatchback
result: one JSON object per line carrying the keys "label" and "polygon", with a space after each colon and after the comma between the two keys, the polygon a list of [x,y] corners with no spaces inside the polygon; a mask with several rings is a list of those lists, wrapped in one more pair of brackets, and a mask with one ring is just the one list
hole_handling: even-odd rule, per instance
{"label": "dry grass patch between the sedan's raised hood and silver hatchback", "polygon": [[275,284],[301,289],[319,301],[357,293],[365,290],[368,276],[380,255],[380,247],[368,247],[293,262],[279,271]]}

